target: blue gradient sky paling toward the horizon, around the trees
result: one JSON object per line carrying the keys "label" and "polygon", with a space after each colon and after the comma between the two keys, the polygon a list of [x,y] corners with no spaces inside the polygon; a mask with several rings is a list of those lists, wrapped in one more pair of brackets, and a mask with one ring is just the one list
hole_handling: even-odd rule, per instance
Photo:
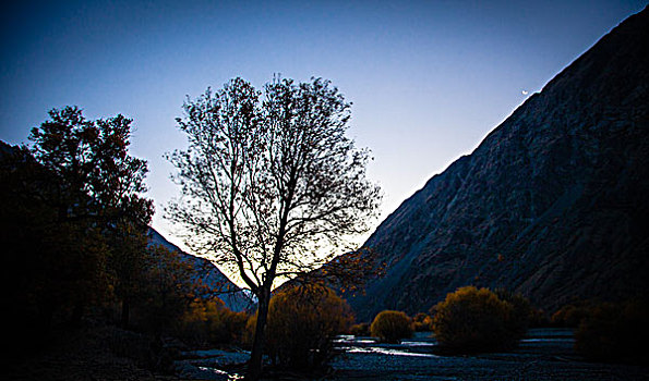
{"label": "blue gradient sky paling toward the horizon, around the trees", "polygon": [[[383,217],[647,1],[13,1],[1,5],[0,139],[27,143],[47,111],[134,119],[153,225],[178,189],[185,95],[242,76],[330,79],[375,160]],[[525,95],[529,91],[529,95]],[[382,218],[383,219],[383,218]],[[381,220],[376,221],[376,224]]]}

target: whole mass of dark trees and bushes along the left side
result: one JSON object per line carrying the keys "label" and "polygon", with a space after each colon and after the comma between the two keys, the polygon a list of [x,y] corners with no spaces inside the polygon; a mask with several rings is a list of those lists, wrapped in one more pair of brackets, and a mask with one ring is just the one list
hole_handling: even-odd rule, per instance
{"label": "whole mass of dark trees and bushes along the left side", "polygon": [[178,254],[149,245],[154,208],[142,196],[146,161],[128,151],[132,120],[86,120],[76,107],[49,116],[31,148],[0,151],[7,337],[29,346],[99,309],[129,327],[136,308],[159,331],[202,288]]}

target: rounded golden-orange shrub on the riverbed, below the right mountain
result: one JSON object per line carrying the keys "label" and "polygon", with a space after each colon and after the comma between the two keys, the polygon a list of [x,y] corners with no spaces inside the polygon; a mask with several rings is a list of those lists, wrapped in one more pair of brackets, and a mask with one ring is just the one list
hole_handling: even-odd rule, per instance
{"label": "rounded golden-orange shrub on the riverbed, below the right mountain", "polygon": [[444,302],[435,306],[435,310],[433,331],[437,342],[443,348],[459,353],[516,346],[527,327],[527,322],[520,319],[529,317],[522,299],[513,303],[502,300],[488,288],[473,286],[449,293]]}

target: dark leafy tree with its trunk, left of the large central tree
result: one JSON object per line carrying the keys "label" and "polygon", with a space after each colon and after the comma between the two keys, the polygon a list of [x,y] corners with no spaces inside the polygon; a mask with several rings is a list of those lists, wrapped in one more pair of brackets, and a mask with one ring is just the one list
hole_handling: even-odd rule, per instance
{"label": "dark leafy tree with its trunk, left of the large central tree", "polygon": [[[132,120],[117,115],[88,121],[76,107],[55,109],[49,115],[32,130],[29,139],[38,163],[57,177],[58,187],[49,200],[56,221],[104,237],[109,247],[108,274],[122,302],[125,325],[153,214],[152,200],[140,196],[146,189],[146,161],[128,152]],[[86,251],[83,241],[79,245],[81,253]],[[82,307],[80,303],[79,317]]]}

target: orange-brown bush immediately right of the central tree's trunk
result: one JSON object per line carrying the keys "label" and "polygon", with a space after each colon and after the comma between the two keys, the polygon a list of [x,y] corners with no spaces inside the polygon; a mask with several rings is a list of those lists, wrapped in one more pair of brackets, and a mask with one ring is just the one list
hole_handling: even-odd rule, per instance
{"label": "orange-brown bush immediately right of the central tree's trunk", "polygon": [[[281,367],[299,370],[321,368],[333,357],[332,340],[347,332],[351,321],[349,306],[330,288],[321,285],[291,286],[271,299],[266,353],[274,364]],[[251,318],[249,332],[254,331],[255,323],[256,318]]]}

